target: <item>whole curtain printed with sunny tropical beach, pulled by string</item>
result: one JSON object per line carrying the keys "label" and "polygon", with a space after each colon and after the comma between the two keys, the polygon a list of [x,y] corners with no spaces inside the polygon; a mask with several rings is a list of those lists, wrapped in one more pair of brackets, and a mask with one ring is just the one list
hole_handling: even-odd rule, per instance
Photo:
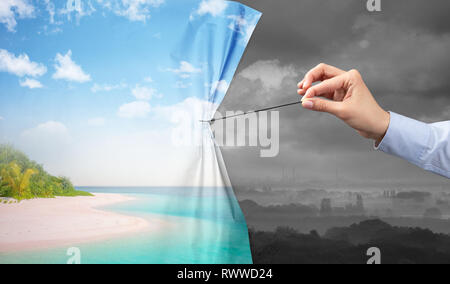
{"label": "whole curtain printed with sunny tropical beach, pulled by string", "polygon": [[0,263],[251,263],[211,129],[261,14],[2,2]]}

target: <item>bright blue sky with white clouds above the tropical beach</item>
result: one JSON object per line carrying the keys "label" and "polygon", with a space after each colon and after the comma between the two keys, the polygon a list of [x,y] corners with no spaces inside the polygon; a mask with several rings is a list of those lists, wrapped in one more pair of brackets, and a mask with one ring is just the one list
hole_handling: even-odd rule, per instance
{"label": "bright blue sky with white clouds above the tropical beach", "polygon": [[223,0],[2,1],[0,142],[77,185],[191,185],[169,178],[196,159],[172,143],[177,114],[212,115],[259,17]]}

